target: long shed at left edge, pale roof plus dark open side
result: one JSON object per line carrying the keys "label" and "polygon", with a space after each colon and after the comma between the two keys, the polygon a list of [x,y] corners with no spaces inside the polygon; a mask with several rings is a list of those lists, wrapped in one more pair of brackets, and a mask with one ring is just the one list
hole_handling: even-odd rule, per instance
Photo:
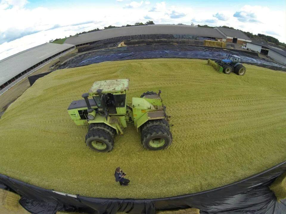
{"label": "long shed at left edge, pale roof plus dark open side", "polygon": [[0,60],[0,95],[44,64],[74,47],[70,44],[45,43]]}

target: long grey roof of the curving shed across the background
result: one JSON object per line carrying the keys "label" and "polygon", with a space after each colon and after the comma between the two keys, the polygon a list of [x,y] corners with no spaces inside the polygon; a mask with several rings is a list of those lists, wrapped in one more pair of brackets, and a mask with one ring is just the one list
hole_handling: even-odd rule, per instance
{"label": "long grey roof of the curving shed across the background", "polygon": [[203,28],[190,25],[157,24],[111,28],[86,34],[80,34],[78,36],[68,37],[65,43],[79,45],[114,37],[142,34],[186,34],[203,37],[215,37],[221,39],[225,38],[225,36],[213,28]]}

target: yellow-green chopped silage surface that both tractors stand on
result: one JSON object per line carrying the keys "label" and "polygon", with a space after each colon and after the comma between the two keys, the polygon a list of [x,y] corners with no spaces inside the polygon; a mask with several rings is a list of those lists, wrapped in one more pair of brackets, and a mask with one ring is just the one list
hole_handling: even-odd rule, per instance
{"label": "yellow-green chopped silage surface that both tractors stand on", "polygon": [[[286,73],[245,65],[220,74],[199,59],[103,62],[57,70],[27,89],[0,119],[0,173],[56,191],[157,198],[226,185],[286,158]],[[114,150],[84,143],[87,127],[67,114],[94,81],[130,78],[131,97],[162,90],[173,143],[144,150],[131,125]],[[114,181],[121,166],[129,186]]]}

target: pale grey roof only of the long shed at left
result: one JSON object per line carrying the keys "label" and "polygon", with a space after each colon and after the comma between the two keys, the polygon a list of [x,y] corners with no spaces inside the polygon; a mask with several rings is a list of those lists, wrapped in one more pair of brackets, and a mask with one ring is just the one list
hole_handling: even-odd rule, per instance
{"label": "pale grey roof only of the long shed at left", "polygon": [[73,46],[45,43],[0,60],[0,85],[29,67]]}

